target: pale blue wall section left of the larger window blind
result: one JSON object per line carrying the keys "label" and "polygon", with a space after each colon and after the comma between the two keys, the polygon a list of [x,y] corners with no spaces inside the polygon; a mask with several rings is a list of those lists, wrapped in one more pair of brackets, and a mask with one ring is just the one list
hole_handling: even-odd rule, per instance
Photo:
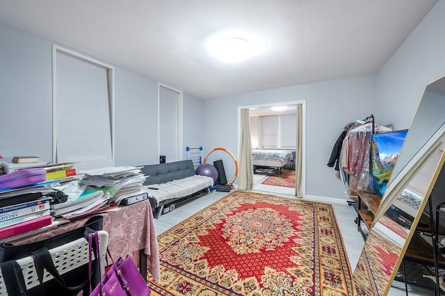
{"label": "pale blue wall section left of the larger window blind", "polygon": [[51,161],[51,42],[0,24],[0,155]]}

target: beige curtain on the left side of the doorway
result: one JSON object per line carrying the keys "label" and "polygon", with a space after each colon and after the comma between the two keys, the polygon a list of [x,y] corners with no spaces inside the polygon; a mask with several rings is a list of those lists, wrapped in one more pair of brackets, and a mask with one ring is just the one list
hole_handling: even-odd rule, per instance
{"label": "beige curtain on the left side of the doorway", "polygon": [[249,190],[253,186],[252,143],[250,142],[249,109],[241,110],[241,145],[239,151],[238,189]]}

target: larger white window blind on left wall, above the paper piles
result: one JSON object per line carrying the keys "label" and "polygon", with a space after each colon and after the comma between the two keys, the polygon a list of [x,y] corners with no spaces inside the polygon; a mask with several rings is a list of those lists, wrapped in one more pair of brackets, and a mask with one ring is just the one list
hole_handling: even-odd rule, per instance
{"label": "larger white window blind on left wall, above the paper piles", "polygon": [[56,162],[113,166],[108,70],[56,51]]}

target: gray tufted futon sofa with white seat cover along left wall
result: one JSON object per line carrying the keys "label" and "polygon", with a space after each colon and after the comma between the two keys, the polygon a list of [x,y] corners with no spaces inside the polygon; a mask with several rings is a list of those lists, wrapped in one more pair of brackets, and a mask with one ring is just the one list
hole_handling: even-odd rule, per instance
{"label": "gray tufted futon sofa with white seat cover along left wall", "polygon": [[[211,177],[195,174],[191,160],[144,165],[142,172],[147,176],[144,187],[156,219],[172,211],[179,202],[210,193],[213,186]],[[164,208],[166,205],[169,208]]]}

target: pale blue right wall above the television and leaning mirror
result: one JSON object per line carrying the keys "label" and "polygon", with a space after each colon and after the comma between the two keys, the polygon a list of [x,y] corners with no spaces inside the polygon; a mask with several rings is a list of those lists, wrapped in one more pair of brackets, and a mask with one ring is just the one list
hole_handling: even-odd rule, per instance
{"label": "pale blue right wall above the television and leaning mirror", "polygon": [[445,1],[406,38],[378,72],[377,115],[394,129],[407,129],[426,85],[445,75]]}

